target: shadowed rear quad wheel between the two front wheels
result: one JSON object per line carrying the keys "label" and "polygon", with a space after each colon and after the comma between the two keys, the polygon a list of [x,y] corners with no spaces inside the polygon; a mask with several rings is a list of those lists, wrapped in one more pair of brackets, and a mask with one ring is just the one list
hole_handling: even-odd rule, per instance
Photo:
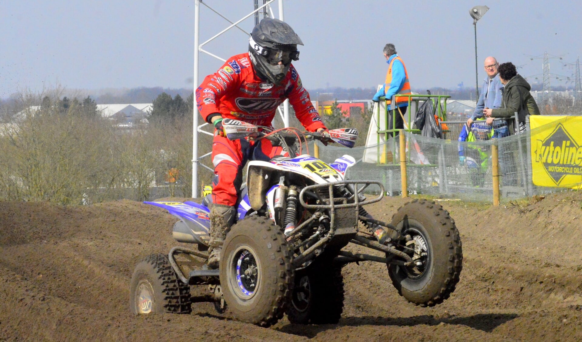
{"label": "shadowed rear quad wheel between the two front wheels", "polygon": [[343,276],[339,267],[308,268],[297,271],[289,322],[296,324],[336,324],[343,312]]}

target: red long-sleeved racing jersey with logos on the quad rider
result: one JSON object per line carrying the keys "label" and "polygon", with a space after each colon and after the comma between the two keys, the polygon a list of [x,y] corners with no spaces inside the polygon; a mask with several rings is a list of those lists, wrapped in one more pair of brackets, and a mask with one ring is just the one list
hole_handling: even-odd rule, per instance
{"label": "red long-sleeved racing jersey with logos on the quad rider", "polygon": [[326,128],[293,65],[281,84],[269,83],[257,76],[247,52],[230,57],[196,89],[196,105],[205,122],[208,115],[220,113],[225,119],[271,126],[277,107],[285,99],[306,130]]}

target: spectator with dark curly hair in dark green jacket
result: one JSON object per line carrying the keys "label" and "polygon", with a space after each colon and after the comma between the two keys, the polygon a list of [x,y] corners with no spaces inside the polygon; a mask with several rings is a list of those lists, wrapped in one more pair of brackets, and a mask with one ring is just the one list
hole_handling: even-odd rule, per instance
{"label": "spectator with dark curly hair in dark green jacket", "polygon": [[[494,117],[511,117],[518,113],[519,132],[526,130],[526,115],[540,115],[540,109],[535,99],[530,94],[531,86],[517,74],[513,63],[507,62],[499,65],[499,80],[505,85],[501,108],[485,108],[483,113],[487,116],[487,123],[492,124]],[[517,129],[514,129],[517,133]]]}

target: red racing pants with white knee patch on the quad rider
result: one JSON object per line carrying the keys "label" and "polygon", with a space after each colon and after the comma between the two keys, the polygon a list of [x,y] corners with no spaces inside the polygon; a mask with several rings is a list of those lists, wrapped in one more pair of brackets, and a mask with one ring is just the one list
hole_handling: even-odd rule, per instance
{"label": "red racing pants with white knee patch on the quad rider", "polygon": [[219,135],[212,141],[212,203],[236,205],[243,183],[243,167],[247,161],[269,161],[276,155],[286,155],[282,147],[273,147],[271,141],[246,139],[228,140]]}

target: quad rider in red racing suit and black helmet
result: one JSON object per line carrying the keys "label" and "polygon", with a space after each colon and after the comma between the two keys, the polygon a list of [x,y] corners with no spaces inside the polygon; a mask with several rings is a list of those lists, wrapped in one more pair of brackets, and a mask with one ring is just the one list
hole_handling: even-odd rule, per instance
{"label": "quad rider in red racing suit and black helmet", "polygon": [[291,64],[299,59],[299,36],[286,23],[265,18],[249,37],[249,52],[230,57],[196,89],[196,104],[203,119],[214,125],[208,266],[217,268],[226,233],[235,220],[237,191],[247,160],[268,161],[281,154],[269,140],[257,144],[246,139],[228,140],[222,119],[237,119],[255,126],[271,127],[275,111],[289,99],[297,119],[308,131],[327,131],[311,105],[299,74]]}

